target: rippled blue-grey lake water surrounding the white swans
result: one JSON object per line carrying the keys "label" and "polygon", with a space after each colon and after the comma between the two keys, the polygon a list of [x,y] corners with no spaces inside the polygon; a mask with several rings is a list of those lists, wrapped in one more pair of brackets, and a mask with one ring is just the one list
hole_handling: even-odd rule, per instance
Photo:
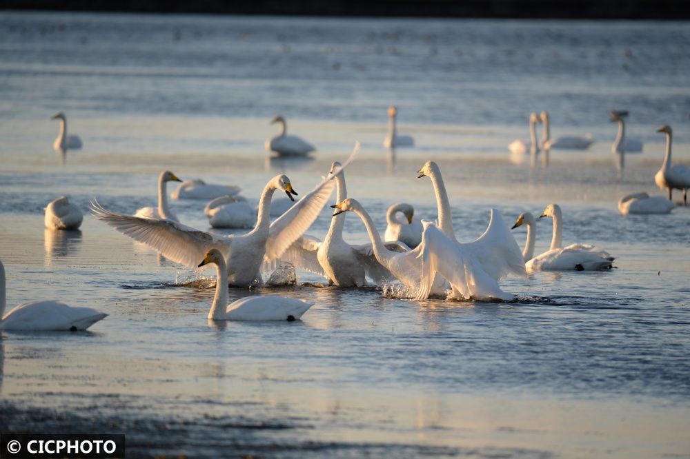
{"label": "rippled blue-grey lake water surrounding the white swans", "polygon": [[[125,432],[132,456],[686,457],[690,211],[620,216],[623,194],[662,194],[662,123],[690,159],[686,23],[273,19],[0,14],[0,259],[10,306],[62,298],[110,314],[88,333],[0,334],[0,430]],[[388,105],[417,147],[382,147]],[[645,142],[618,176],[609,108]],[[52,152],[68,114],[84,149]],[[513,164],[526,114],[554,135],[592,132],[588,152]],[[266,159],[281,113],[313,161]],[[558,202],[564,242],[618,259],[602,273],[509,278],[516,303],[383,298],[299,286],[302,322],[213,325],[213,272],[155,253],[86,216],[43,229],[68,194],[86,211],[155,203],[163,169],[235,183],[256,199],[278,173],[301,194],[354,139],[351,196],[384,230],[395,201],[435,217],[441,167],[461,240]],[[676,199],[679,198],[676,192]],[[208,227],[204,203],[173,203]],[[323,237],[324,210],[310,234]],[[348,241],[366,242],[355,216]],[[538,224],[538,251],[550,222]],[[524,243],[524,230],[516,230]],[[300,274],[301,283],[323,279]],[[259,293],[266,293],[264,289]],[[231,299],[254,294],[231,289]],[[274,292],[275,293],[275,292]],[[228,452],[232,451],[232,452]]]}

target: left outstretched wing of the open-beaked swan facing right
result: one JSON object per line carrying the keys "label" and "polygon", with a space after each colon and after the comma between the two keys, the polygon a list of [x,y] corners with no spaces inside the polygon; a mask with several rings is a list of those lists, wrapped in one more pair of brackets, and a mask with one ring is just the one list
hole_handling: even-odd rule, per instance
{"label": "left outstretched wing of the open-beaked swan facing right", "polygon": [[188,267],[197,267],[210,249],[218,249],[225,258],[230,252],[231,238],[219,238],[174,221],[116,214],[103,209],[97,201],[91,202],[91,213],[122,234],[157,250],[168,260]]}

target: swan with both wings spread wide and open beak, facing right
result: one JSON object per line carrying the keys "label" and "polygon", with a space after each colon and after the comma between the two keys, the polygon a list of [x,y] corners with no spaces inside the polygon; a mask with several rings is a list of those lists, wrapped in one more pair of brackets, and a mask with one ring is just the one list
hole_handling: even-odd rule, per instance
{"label": "swan with both wings spread wide and open beak, facing right", "polygon": [[[357,149],[343,167],[352,161]],[[315,221],[333,192],[331,178],[322,180],[311,192],[290,207],[290,210],[269,223],[268,210],[275,190],[288,196],[297,195],[290,179],[285,175],[273,177],[259,198],[259,215],[253,230],[246,234],[219,236],[168,220],[152,220],[108,212],[92,201],[94,216],[119,232],[156,249],[170,261],[195,268],[212,248],[219,249],[226,257],[228,283],[248,287],[262,282],[259,269],[262,261],[275,261]]]}

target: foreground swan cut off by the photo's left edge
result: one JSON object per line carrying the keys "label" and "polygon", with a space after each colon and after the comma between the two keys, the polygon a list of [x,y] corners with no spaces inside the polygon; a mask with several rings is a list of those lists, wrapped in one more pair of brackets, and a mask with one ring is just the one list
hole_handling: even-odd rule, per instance
{"label": "foreground swan cut off by the photo's left edge", "polygon": [[6,307],[5,267],[0,261],[1,330],[35,332],[86,330],[108,316],[90,307],[71,307],[57,300],[30,301],[4,314]]}

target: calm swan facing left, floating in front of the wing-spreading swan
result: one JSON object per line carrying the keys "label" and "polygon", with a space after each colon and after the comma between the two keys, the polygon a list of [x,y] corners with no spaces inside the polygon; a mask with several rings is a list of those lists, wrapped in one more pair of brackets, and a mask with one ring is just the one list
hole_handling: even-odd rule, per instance
{"label": "calm swan facing left, floating in front of the wing-spreading swan", "polygon": [[228,267],[218,249],[210,249],[199,267],[215,263],[216,291],[208,311],[209,320],[297,320],[314,303],[277,295],[248,296],[228,305]]}

